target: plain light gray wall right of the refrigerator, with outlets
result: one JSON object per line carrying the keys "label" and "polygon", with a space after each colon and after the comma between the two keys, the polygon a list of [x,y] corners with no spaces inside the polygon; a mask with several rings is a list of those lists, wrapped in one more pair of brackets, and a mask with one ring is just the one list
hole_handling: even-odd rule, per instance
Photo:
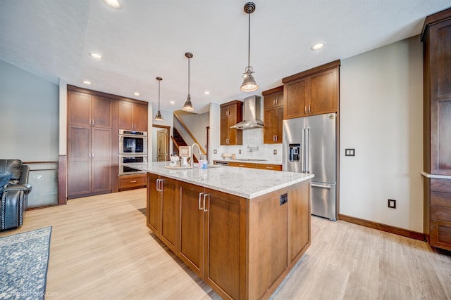
{"label": "plain light gray wall right of the refrigerator, with outlets", "polygon": [[[345,148],[355,148],[355,157],[345,157]],[[419,37],[342,60],[340,214],[422,233],[422,168]]]}

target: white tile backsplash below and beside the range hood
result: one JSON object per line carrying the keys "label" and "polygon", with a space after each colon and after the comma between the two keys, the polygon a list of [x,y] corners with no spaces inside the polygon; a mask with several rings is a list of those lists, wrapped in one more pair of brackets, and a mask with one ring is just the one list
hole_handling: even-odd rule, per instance
{"label": "white tile backsplash below and beside the range hood", "polygon": [[[249,147],[258,148],[258,150],[250,152]],[[237,158],[266,159],[282,164],[282,144],[264,144],[262,128],[243,130],[242,145],[220,145],[216,150],[218,151],[213,154],[212,159],[223,159],[221,154],[230,153],[235,154]],[[274,155],[274,150],[277,152],[276,155]]]}

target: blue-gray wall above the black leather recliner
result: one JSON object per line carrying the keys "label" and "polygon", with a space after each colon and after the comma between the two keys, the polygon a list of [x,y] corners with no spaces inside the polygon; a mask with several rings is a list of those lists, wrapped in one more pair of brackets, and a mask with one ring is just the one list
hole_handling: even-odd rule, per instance
{"label": "blue-gray wall above the black leather recliner", "polygon": [[0,60],[0,157],[58,161],[58,86]]}

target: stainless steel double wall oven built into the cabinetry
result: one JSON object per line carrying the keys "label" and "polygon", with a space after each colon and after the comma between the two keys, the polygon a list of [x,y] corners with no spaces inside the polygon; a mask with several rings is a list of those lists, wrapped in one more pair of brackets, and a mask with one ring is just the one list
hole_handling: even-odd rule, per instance
{"label": "stainless steel double wall oven built into the cabinetry", "polygon": [[119,176],[145,173],[123,165],[130,162],[147,162],[146,131],[119,130]]}

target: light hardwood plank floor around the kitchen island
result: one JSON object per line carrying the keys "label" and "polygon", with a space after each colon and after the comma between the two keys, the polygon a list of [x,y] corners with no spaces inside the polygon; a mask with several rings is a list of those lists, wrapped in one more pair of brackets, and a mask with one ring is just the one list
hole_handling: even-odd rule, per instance
{"label": "light hardwood plank floor around the kitchen island", "polygon": [[[27,211],[53,226],[46,299],[219,299],[146,226],[146,190]],[[451,299],[451,257],[426,242],[312,217],[311,246],[271,299]]]}

